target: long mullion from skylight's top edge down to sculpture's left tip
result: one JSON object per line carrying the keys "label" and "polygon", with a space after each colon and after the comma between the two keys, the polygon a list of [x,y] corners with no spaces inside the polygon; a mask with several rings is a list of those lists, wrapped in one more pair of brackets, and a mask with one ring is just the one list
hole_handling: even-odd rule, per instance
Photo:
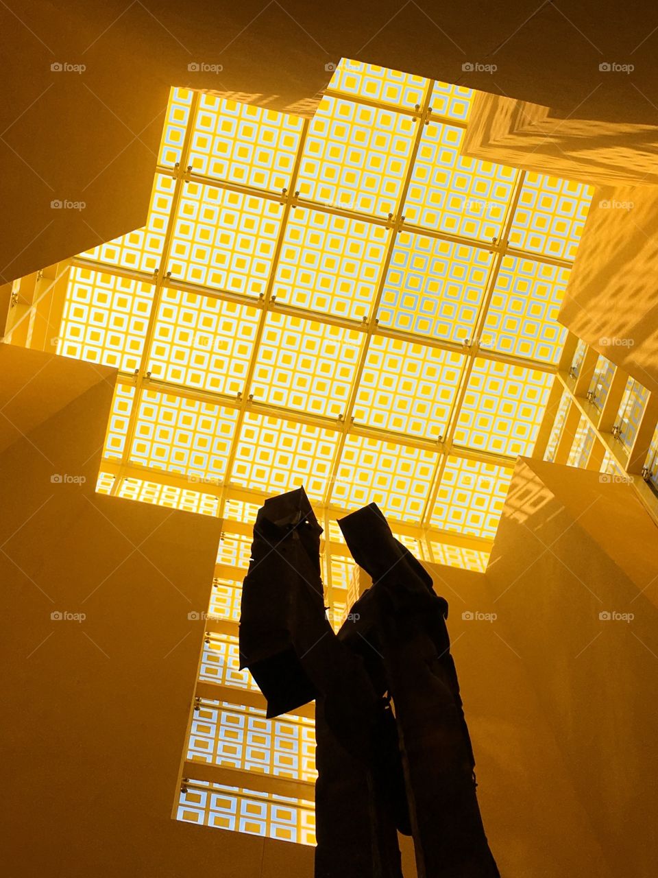
{"label": "long mullion from skylight's top edge down to sculpture's left tip", "polygon": [[361,356],[359,357],[359,363],[357,363],[356,371],[354,372],[354,378],[352,381],[352,386],[350,387],[349,397],[347,399],[347,407],[345,413],[342,418],[342,435],[340,436],[340,440],[336,451],[333,456],[332,463],[332,471],[329,477],[329,481],[327,482],[325,498],[324,498],[324,506],[328,507],[331,502],[331,496],[333,493],[333,485],[338,476],[338,471],[340,467],[340,461],[343,456],[343,451],[345,450],[345,443],[347,441],[347,433],[349,431],[350,422],[352,418],[352,412],[354,411],[354,405],[356,403],[356,396],[359,392],[359,385],[361,383],[361,375],[363,374],[363,370],[366,365],[366,360],[368,357],[368,349],[370,347],[370,339],[375,332],[376,328],[376,313],[379,309],[379,304],[382,301],[383,289],[386,284],[386,276],[388,274],[390,260],[393,256],[393,250],[395,249],[396,240],[397,240],[397,231],[404,221],[404,217],[402,212],[404,211],[404,202],[407,197],[407,192],[409,191],[409,186],[411,184],[411,176],[413,175],[413,166],[416,162],[416,156],[418,155],[418,149],[420,148],[420,140],[423,137],[423,130],[426,125],[426,121],[428,118],[428,110],[430,101],[432,99],[432,81],[428,80],[426,86],[426,94],[423,100],[423,108],[418,113],[418,131],[413,139],[413,147],[411,148],[411,155],[409,156],[409,163],[407,165],[406,173],[404,175],[404,183],[402,185],[402,189],[400,190],[400,197],[397,203],[397,216],[393,220],[393,224],[390,228],[390,241],[386,248],[386,255],[384,256],[384,261],[382,265],[382,270],[379,276],[379,281],[377,283],[377,289],[375,291],[375,297],[373,299],[373,303],[370,309],[370,314],[368,317],[367,323],[367,332],[366,337],[363,342],[363,347],[361,349]]}

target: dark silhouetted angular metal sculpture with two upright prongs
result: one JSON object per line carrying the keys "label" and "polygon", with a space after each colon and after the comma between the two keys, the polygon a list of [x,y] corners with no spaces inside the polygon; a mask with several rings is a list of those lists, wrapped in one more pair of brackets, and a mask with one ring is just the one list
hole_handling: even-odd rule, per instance
{"label": "dark silhouetted angular metal sculpture with two upright prongs", "polygon": [[316,701],[316,878],[402,878],[398,831],[419,878],[496,878],[447,601],[374,503],[339,525],[373,585],[337,635],[303,488],[259,511],[240,617],[240,666],[268,716]]}

